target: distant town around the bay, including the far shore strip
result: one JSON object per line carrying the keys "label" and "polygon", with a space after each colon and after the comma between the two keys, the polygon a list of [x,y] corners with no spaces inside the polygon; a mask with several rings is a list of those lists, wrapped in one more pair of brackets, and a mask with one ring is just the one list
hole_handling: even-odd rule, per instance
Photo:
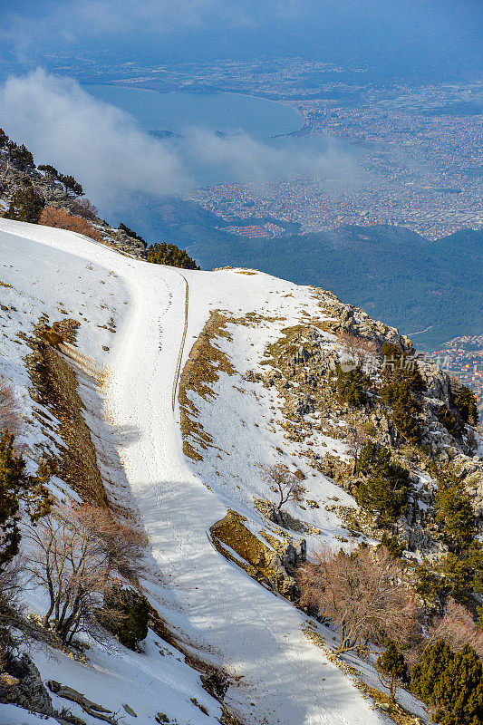
{"label": "distant town around the bay, including the far shore strip", "polygon": [[[483,223],[483,82],[389,82],[371,68],[338,67],[302,59],[253,63],[106,63],[94,72],[92,54],[55,56],[51,70],[82,82],[114,83],[159,92],[238,92],[295,107],[301,128],[294,137],[321,137],[356,154],[350,189],[333,179],[297,178],[257,185],[219,184],[186,198],[246,237],[274,237],[276,220],[302,232],[341,225],[393,224],[437,239]],[[97,68],[100,66],[97,65]],[[283,231],[283,230],[282,230]]]}

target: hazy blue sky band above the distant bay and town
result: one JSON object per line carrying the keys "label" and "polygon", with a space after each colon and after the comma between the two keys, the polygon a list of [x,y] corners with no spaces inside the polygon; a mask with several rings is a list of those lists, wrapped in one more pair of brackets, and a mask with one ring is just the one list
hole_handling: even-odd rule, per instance
{"label": "hazy blue sky band above the distant bay and town", "polygon": [[4,0],[0,57],[5,71],[82,53],[98,66],[300,56],[451,79],[480,72],[482,20],[478,0]]}

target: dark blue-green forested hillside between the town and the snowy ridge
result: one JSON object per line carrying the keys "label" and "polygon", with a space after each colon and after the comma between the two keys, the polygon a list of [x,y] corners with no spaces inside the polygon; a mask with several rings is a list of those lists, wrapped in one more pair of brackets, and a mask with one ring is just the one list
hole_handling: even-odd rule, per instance
{"label": "dark blue-green forested hillside between the town and the snowy ridge", "polygon": [[403,333],[430,327],[415,338],[420,349],[483,333],[481,230],[461,229],[436,242],[388,226],[251,239],[229,234],[224,222],[194,202],[154,195],[143,196],[125,216],[147,238],[154,230],[156,237],[186,247],[204,269],[254,267],[330,289]]}

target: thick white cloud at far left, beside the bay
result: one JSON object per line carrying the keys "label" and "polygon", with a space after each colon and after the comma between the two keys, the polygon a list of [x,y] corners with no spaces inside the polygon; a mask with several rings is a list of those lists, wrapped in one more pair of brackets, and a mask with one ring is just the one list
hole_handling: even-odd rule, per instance
{"label": "thick white cloud at far left, beside the bay", "polygon": [[190,183],[176,154],[140,131],[129,114],[42,70],[0,88],[0,124],[37,163],[72,173],[101,205],[120,191],[166,194]]}

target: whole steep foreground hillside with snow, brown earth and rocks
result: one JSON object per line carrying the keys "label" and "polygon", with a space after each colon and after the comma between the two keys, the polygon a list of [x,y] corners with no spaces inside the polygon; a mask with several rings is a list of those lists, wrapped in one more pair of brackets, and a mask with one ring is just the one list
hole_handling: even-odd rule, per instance
{"label": "whole steep foreground hillside with snow, brown earth and rocks", "polygon": [[[408,562],[448,552],[436,464],[459,467],[479,526],[481,464],[470,457],[478,439],[449,378],[421,361],[410,444],[378,386],[383,345],[409,359],[411,342],[331,293],[247,269],[149,265],[5,219],[0,245],[0,372],[22,401],[29,468],[48,454],[57,498],[107,506],[149,542],[140,584],[152,612],[140,652],[113,637],[101,646],[84,636],[81,657],[52,641],[32,645],[42,681],[109,710],[92,715],[51,682],[58,721],[69,721],[58,714],[64,706],[89,724],[100,713],[178,725],[370,725],[390,722],[388,713],[404,725],[429,721],[409,692],[399,695],[404,710],[381,694],[372,656],[334,655],[337,628],[295,607],[295,570],[322,544],[350,550],[388,533]],[[353,405],[341,381],[361,366],[365,398]],[[362,428],[408,472],[407,501],[391,523],[354,499],[369,479],[350,447],[351,430]],[[304,488],[285,507],[267,478],[277,465]],[[28,559],[28,537],[23,546]],[[45,614],[42,587],[25,587],[24,600]],[[210,676],[227,691],[207,688]],[[27,721],[18,711],[0,704],[6,723]]]}

